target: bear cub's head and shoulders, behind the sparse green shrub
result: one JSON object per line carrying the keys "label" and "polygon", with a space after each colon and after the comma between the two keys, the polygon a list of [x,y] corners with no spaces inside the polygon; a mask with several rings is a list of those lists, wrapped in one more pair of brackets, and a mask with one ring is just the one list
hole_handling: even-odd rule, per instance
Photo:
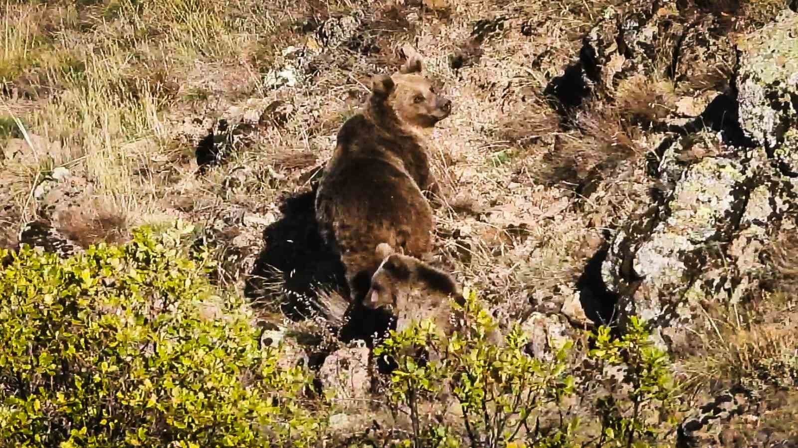
{"label": "bear cub's head and shoulders, behind the sparse green shrub", "polygon": [[382,263],[371,277],[366,308],[386,307],[403,313],[410,309],[435,309],[449,297],[462,295],[454,278],[414,257],[394,253],[385,243],[377,246]]}

